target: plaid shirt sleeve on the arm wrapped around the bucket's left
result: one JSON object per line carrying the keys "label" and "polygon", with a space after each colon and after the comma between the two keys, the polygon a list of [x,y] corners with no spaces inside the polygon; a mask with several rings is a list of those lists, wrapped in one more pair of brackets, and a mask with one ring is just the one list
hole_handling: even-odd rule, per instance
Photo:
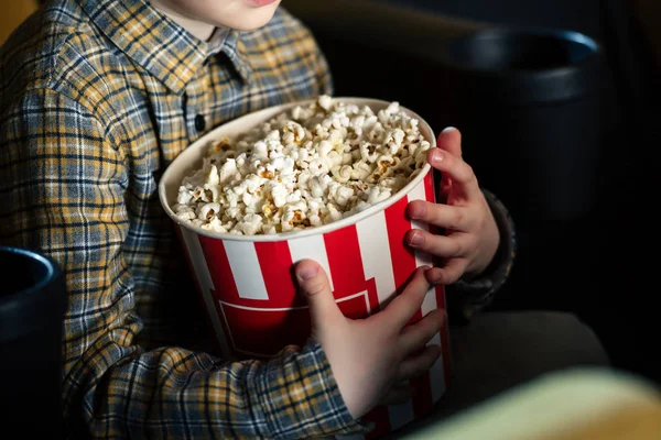
{"label": "plaid shirt sleeve on the arm wrapped around the bucket's left", "polygon": [[364,431],[314,340],[269,362],[136,344],[142,323],[122,256],[129,188],[118,141],[89,106],[53,90],[33,90],[4,114],[0,238],[48,254],[66,274],[63,407],[74,438]]}

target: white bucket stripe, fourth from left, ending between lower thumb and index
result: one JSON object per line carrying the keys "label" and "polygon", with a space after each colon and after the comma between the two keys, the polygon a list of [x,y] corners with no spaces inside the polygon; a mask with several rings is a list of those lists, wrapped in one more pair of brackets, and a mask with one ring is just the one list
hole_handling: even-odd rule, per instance
{"label": "white bucket stripe, fourth from left, ending between lower thumb and index", "polygon": [[365,279],[375,278],[379,304],[388,304],[397,286],[388,243],[386,212],[380,211],[356,224]]}

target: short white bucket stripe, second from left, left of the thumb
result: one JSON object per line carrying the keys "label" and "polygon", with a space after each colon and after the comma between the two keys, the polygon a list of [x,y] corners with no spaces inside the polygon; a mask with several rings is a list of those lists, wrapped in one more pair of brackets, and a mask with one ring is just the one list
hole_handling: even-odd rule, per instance
{"label": "short white bucket stripe, second from left, left of the thumb", "polygon": [[267,285],[254,250],[254,243],[248,241],[224,240],[225,252],[239,292],[246,299],[269,299]]}

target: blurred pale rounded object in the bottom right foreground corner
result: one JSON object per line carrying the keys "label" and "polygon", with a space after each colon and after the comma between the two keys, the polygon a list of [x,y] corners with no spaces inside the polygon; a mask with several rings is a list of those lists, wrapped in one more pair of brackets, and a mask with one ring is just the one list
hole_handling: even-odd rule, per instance
{"label": "blurred pale rounded object in the bottom right foreground corner", "polygon": [[407,440],[658,440],[661,393],[629,374],[573,369],[411,433]]}

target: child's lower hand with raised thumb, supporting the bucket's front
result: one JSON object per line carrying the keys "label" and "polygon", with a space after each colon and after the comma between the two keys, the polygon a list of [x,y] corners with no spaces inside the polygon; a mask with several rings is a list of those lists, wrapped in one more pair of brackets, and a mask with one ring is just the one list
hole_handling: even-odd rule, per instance
{"label": "child's lower hand with raised thumb, supporting the bucket's front", "polygon": [[426,372],[441,354],[438,345],[425,343],[445,321],[444,310],[434,310],[405,327],[430,289],[426,270],[418,268],[403,293],[384,310],[351,320],[337,307],[324,270],[310,260],[296,265],[299,285],[310,305],[312,337],[324,349],[339,392],[356,419],[379,404],[409,399],[412,389],[401,384]]}

